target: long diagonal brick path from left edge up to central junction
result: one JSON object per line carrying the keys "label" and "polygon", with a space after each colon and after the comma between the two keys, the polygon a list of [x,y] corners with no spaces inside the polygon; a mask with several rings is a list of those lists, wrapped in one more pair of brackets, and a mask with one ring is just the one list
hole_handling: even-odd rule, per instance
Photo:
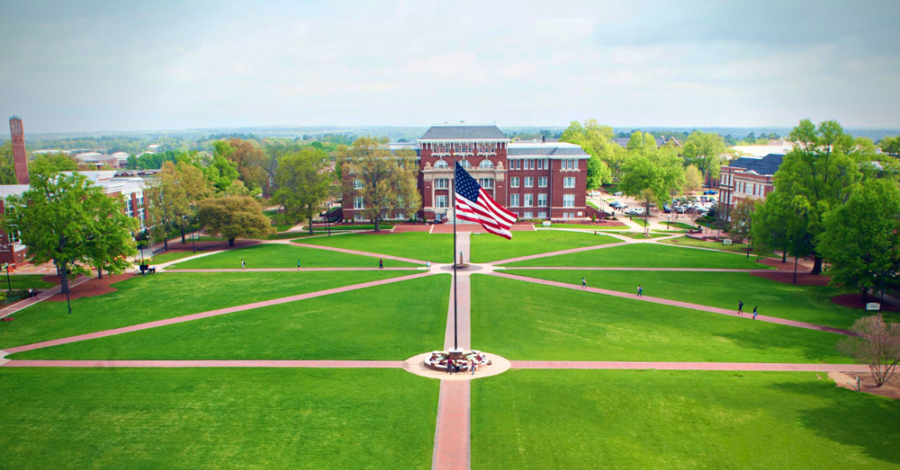
{"label": "long diagonal brick path from left edge up to central junction", "polygon": [[209,318],[211,316],[228,315],[228,314],[233,314],[236,312],[243,312],[245,310],[251,310],[251,309],[259,308],[259,307],[263,307],[263,306],[276,306],[276,305],[280,305],[280,304],[286,304],[288,302],[295,302],[297,300],[304,300],[307,298],[328,296],[330,294],[338,294],[340,292],[348,292],[350,290],[356,290],[356,289],[360,289],[360,288],[372,288],[375,286],[383,286],[384,284],[391,284],[393,282],[401,282],[401,281],[409,280],[409,279],[419,279],[419,278],[431,276],[431,275],[437,274],[437,273],[438,273],[437,271],[433,271],[433,272],[427,271],[427,272],[422,272],[419,274],[411,274],[410,276],[401,276],[399,278],[374,280],[371,282],[364,282],[362,284],[354,284],[352,286],[345,286],[343,288],[329,288],[326,290],[310,292],[307,294],[300,294],[297,296],[281,297],[281,298],[275,298],[272,300],[264,300],[262,302],[255,302],[252,304],[245,304],[242,306],[230,306],[228,308],[220,308],[219,310],[211,310],[209,312],[202,312],[199,314],[176,316],[175,318],[166,318],[165,320],[157,320],[156,322],[148,322],[146,324],[134,324],[131,326],[123,326],[121,328],[114,328],[112,330],[106,330],[103,332],[85,333],[85,334],[79,334],[77,336],[69,336],[68,338],[60,338],[58,340],[35,342],[33,344],[26,344],[24,346],[16,346],[14,348],[9,348],[6,350],[6,352],[8,354],[13,354],[15,352],[23,352],[26,350],[38,350],[40,348],[49,348],[50,346],[57,346],[59,344],[67,344],[70,342],[93,340],[95,338],[103,338],[106,336],[112,336],[114,334],[138,332],[140,330],[147,330],[149,328],[156,328],[158,326],[165,326],[167,324],[180,324],[180,323],[184,323],[184,322],[190,322],[193,320],[199,320],[201,318]]}

